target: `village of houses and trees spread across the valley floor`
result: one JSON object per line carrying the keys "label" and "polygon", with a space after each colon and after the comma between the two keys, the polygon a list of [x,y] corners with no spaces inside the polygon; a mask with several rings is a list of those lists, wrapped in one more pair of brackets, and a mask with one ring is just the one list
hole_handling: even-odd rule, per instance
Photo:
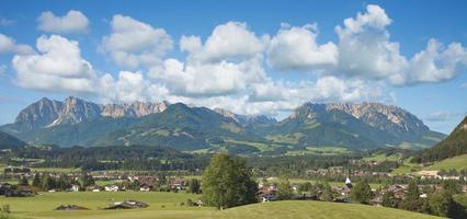
{"label": "village of houses and trees spread across the valley floor", "polygon": [[[377,165],[375,162],[368,162]],[[253,170],[254,171],[254,170]],[[322,200],[334,203],[349,203],[351,192],[354,187],[351,178],[361,181],[362,178],[387,177],[394,178],[397,175],[388,172],[372,172],[354,170],[349,171],[344,166],[330,166],[328,169],[308,170],[306,173],[315,180],[296,180],[283,177],[258,177],[257,198],[260,203],[275,200]],[[340,176],[340,177],[335,177]],[[463,175],[441,175],[440,171],[420,171],[418,175],[398,176],[401,182],[418,180],[419,198],[426,198],[429,191],[436,191],[443,187],[443,182],[453,182],[459,187],[459,193],[467,193],[465,184],[467,177]],[[132,174],[122,171],[92,171],[92,172],[69,172],[49,173],[32,172],[29,168],[5,168],[1,175],[0,196],[5,197],[31,197],[41,193],[124,193],[127,191],[149,193],[203,193],[203,182],[201,175],[168,175],[158,174]],[[335,178],[344,178],[335,181]],[[18,183],[14,183],[14,182]],[[284,185],[286,188],[284,188]],[[286,189],[286,194],[281,189]],[[369,205],[383,206],[385,194],[391,194],[391,198],[401,201],[406,198],[408,183],[373,183]],[[281,195],[282,193],[282,195]],[[387,198],[387,197],[386,197]],[[185,205],[185,204],[183,204]],[[190,200],[190,206],[204,206],[202,199]],[[107,204],[101,209],[134,209],[146,208],[148,205],[139,200],[116,200]],[[56,210],[83,210],[87,207],[73,204],[64,204]]]}

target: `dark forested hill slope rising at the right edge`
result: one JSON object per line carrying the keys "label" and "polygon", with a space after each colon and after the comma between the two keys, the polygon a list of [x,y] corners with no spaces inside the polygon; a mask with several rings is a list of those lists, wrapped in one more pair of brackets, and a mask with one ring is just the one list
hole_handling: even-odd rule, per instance
{"label": "dark forested hill slope rising at the right edge", "polygon": [[444,140],[420,153],[415,161],[433,162],[467,153],[467,116]]}

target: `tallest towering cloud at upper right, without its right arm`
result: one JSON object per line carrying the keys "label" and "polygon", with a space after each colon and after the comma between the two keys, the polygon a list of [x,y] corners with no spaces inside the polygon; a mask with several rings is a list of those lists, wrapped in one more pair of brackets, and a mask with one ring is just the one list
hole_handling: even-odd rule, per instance
{"label": "tallest towering cloud at upper right, without its right arm", "polygon": [[339,70],[350,76],[396,81],[408,61],[400,55],[399,44],[389,41],[386,27],[391,20],[378,5],[369,4],[366,10],[355,19],[345,19],[343,27],[335,27]]}

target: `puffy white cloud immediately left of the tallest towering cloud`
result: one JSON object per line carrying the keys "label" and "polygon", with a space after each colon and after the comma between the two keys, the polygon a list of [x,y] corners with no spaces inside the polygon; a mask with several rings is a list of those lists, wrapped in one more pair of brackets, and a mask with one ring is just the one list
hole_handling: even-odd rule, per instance
{"label": "puffy white cloud immediately left of the tallest towering cloud", "polygon": [[267,48],[269,64],[281,70],[314,70],[338,64],[338,48],[329,42],[318,45],[316,25],[284,26],[272,37]]}

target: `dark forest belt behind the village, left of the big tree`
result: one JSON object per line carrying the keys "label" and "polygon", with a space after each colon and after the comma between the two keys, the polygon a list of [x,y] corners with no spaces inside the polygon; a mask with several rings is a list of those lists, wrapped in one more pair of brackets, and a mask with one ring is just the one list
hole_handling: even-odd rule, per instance
{"label": "dark forest belt behind the village, left of the big tree", "polygon": [[[208,155],[182,153],[175,149],[148,146],[111,147],[25,147],[15,148],[2,154],[7,165],[30,165],[31,168],[80,168],[84,171],[132,170],[195,172],[207,166]],[[44,162],[18,163],[10,158],[41,159]],[[105,162],[102,162],[105,161]],[[169,162],[170,161],[170,162]]]}

